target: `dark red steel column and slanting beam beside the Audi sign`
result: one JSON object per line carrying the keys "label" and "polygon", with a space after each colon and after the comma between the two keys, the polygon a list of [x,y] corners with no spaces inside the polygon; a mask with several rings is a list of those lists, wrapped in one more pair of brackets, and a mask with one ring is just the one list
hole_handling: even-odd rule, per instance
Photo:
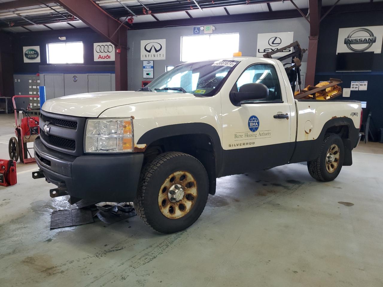
{"label": "dark red steel column and slanting beam beside the Audi sign", "polygon": [[[114,44],[116,91],[128,90],[128,27],[106,13],[92,0],[57,0],[69,13]],[[116,49],[117,51],[117,49]]]}

